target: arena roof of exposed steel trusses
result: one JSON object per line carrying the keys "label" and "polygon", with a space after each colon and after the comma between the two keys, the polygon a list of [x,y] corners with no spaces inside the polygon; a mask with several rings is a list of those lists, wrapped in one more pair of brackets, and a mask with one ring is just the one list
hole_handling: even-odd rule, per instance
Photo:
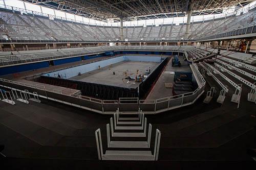
{"label": "arena roof of exposed steel trusses", "polygon": [[23,0],[56,10],[97,20],[142,20],[185,16],[189,5],[193,15],[219,14],[223,9],[239,9],[253,0]]}

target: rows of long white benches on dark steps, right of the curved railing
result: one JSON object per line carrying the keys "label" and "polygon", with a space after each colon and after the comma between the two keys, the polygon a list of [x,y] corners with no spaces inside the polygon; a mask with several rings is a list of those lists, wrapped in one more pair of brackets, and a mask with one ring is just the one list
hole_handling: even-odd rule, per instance
{"label": "rows of long white benches on dark steps, right of the curved railing", "polygon": [[[201,62],[199,66],[220,85],[222,89],[220,96],[224,94],[224,91],[227,93],[228,89],[233,89],[231,90],[233,93],[231,102],[238,103],[239,107],[243,85],[243,93],[248,93],[247,100],[256,102],[255,66],[245,64],[243,60],[240,61],[235,56],[232,58],[232,55],[219,55],[214,63]],[[204,70],[201,70],[201,72],[205,72]],[[207,92],[207,97],[210,98],[211,96],[208,96],[208,93],[211,94],[211,91]],[[225,96],[221,98],[224,100]]]}

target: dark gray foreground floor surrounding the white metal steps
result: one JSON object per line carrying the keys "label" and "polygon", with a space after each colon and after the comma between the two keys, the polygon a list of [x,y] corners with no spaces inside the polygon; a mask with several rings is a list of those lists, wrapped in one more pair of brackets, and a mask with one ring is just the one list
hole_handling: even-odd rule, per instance
{"label": "dark gray foreground floor surrounding the white metal steps", "polygon": [[[105,125],[109,123],[110,115],[44,99],[41,99],[42,103],[30,102],[28,105],[17,101],[14,106],[0,101],[0,144],[5,145],[2,152],[8,157],[5,162],[9,166],[15,162],[13,166],[16,169],[23,167],[23,163],[30,165],[37,161],[43,169],[46,169],[43,164],[70,169],[75,168],[74,164],[88,167],[88,163],[107,169],[129,169],[133,166],[163,169],[165,165],[184,169],[184,162],[185,167],[190,169],[201,167],[193,166],[191,162],[203,162],[200,164],[202,167],[208,162],[204,169],[222,169],[224,166],[216,167],[216,164],[223,162],[228,162],[226,168],[254,169],[252,159],[246,152],[249,148],[256,148],[256,132],[253,129],[256,125],[256,107],[247,101],[250,89],[243,85],[240,108],[237,109],[237,104],[230,102],[234,88],[219,76],[217,78],[229,88],[222,105],[216,103],[219,93],[214,94],[209,104],[203,103],[210,87],[215,86],[220,91],[218,84],[205,75],[205,93],[195,104],[157,115],[146,115],[147,122],[153,125],[153,131],[158,128],[162,133],[158,162],[98,161],[94,132],[101,128],[105,150]],[[35,167],[33,165],[31,169]]]}

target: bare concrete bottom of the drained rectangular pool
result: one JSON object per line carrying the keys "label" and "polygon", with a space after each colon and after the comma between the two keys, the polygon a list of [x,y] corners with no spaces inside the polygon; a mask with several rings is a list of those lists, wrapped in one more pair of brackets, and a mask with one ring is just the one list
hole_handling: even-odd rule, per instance
{"label": "bare concrete bottom of the drained rectangular pool", "polygon": [[[158,64],[160,63],[122,61],[70,79],[110,86],[136,88],[139,86],[139,82],[135,82],[134,80],[128,82],[128,80],[125,79],[125,71],[127,72],[127,76],[135,78],[137,69],[139,69],[138,75],[145,75],[146,68],[151,67],[151,70],[154,70]],[[115,71],[115,75],[113,75],[113,71]]]}

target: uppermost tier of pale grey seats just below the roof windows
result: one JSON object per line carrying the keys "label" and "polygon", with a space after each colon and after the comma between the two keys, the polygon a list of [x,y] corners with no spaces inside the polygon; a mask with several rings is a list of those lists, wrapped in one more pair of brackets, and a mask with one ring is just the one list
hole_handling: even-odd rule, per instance
{"label": "uppermost tier of pale grey seats just below the roof windows", "polygon": [[[255,33],[256,17],[254,15],[254,9],[252,9],[239,16],[191,22],[189,39]],[[85,25],[56,18],[52,20],[45,16],[22,15],[17,11],[15,13],[0,11],[0,24],[0,41],[2,42],[109,42],[120,40],[119,27]],[[126,26],[123,32],[124,38],[128,41],[178,41],[184,37],[185,29],[183,24]],[[212,34],[216,35],[209,37]]]}

